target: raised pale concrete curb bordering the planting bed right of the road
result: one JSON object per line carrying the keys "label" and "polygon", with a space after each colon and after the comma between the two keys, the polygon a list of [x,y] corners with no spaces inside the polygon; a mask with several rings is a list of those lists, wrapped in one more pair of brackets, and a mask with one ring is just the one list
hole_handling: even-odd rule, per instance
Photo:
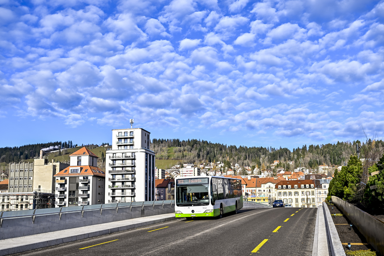
{"label": "raised pale concrete curb bordering the planting bed right of the road", "polygon": [[336,226],[333,223],[332,216],[326,202],[323,202],[323,210],[332,256],[345,256],[346,254],[344,252],[343,245],[341,244],[339,234],[337,233]]}

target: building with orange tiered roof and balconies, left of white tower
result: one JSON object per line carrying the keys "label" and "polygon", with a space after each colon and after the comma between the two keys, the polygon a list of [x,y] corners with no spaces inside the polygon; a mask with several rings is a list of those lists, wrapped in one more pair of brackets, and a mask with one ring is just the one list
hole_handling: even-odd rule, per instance
{"label": "building with orange tiered roof and balconies, left of white tower", "polygon": [[98,156],[86,147],[70,155],[70,166],[56,173],[58,206],[98,205],[106,203],[105,173],[97,167]]}

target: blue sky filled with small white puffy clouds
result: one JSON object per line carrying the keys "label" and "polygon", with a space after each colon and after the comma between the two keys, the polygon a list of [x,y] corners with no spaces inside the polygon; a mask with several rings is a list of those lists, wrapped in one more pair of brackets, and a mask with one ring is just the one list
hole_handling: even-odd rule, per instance
{"label": "blue sky filled with small white puffy clouds", "polygon": [[384,2],[0,1],[0,147],[384,136]]}

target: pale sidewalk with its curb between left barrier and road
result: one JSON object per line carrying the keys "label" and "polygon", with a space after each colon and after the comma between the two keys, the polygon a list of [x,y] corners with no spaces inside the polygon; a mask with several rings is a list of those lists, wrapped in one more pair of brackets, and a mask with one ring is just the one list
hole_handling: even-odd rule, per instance
{"label": "pale sidewalk with its curb between left barrier and road", "polygon": [[0,256],[21,253],[33,249],[68,243],[94,236],[106,235],[118,231],[129,230],[131,228],[138,228],[175,219],[176,218],[174,213],[167,213],[81,228],[72,228],[69,230],[60,230],[32,236],[4,239],[0,241]]}

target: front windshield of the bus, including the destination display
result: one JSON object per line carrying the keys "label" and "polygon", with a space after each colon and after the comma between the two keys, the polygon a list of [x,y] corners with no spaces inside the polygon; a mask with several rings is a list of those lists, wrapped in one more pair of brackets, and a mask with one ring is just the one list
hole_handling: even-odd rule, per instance
{"label": "front windshield of the bus, including the destination display", "polygon": [[209,179],[185,178],[176,180],[176,205],[209,205]]}

